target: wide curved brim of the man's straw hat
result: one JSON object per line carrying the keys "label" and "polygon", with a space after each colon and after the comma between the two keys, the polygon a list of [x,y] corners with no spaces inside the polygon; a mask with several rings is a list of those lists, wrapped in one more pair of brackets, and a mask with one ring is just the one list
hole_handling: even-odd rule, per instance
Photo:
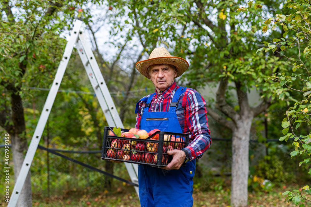
{"label": "wide curved brim of the man's straw hat", "polygon": [[189,63],[185,59],[181,57],[168,56],[168,57],[155,57],[139,61],[136,63],[136,68],[138,72],[140,72],[143,76],[145,76],[147,79],[150,79],[148,67],[150,65],[157,65],[157,64],[174,65],[177,70],[176,78],[181,76],[189,67]]}

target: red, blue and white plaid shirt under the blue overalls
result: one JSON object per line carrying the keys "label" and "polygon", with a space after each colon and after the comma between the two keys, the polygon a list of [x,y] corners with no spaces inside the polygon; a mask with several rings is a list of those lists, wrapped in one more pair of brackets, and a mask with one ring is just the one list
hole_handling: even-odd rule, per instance
{"label": "red, blue and white plaid shirt under the blue overalls", "polygon": [[[174,82],[160,95],[156,95],[151,101],[149,111],[169,111],[169,105],[179,86]],[[147,95],[150,97],[152,94]],[[194,89],[186,88],[186,91],[179,96],[179,103],[176,107],[176,114],[183,133],[190,133],[189,145],[185,147],[191,160],[201,158],[202,154],[211,145],[211,135],[207,124],[207,110],[204,98]],[[141,128],[142,114],[146,102],[140,101],[136,118],[135,128]]]}

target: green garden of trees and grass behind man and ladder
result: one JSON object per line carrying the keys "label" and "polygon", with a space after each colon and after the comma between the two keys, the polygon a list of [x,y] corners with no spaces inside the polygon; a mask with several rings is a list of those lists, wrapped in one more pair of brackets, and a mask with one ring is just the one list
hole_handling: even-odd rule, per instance
{"label": "green garden of trees and grass behind man and ladder", "polygon": [[[166,47],[190,63],[176,82],[205,98],[212,137],[197,160],[194,206],[311,206],[311,2],[0,0],[0,9],[0,145],[9,133],[10,192],[80,18],[125,128],[135,126],[136,102],[154,92],[136,62]],[[77,51],[60,89],[39,145],[88,151],[59,153],[130,180],[124,164],[92,153],[108,124]],[[139,206],[131,185],[43,150],[30,171],[21,197],[32,201],[20,206]]]}

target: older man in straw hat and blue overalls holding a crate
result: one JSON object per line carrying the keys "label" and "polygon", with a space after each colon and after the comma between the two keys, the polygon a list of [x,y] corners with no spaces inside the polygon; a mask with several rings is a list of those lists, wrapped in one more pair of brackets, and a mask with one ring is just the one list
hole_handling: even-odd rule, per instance
{"label": "older man in straw hat and blue overalls holding a crate", "polygon": [[137,103],[135,127],[190,134],[187,147],[167,152],[173,160],[165,168],[139,165],[142,207],[193,206],[195,158],[201,158],[209,148],[211,137],[203,97],[194,89],[175,83],[175,78],[188,67],[186,60],[171,56],[164,47],[155,48],[149,59],[136,63],[137,70],[152,81],[156,92]]}

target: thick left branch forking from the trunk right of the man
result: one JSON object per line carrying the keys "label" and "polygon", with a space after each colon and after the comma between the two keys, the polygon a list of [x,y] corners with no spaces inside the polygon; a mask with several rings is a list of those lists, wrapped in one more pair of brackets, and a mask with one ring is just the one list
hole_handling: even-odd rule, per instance
{"label": "thick left branch forking from the trunk right of the man", "polygon": [[228,85],[228,78],[223,78],[220,81],[219,88],[216,93],[216,108],[226,116],[230,117],[234,122],[240,119],[240,115],[226,103],[225,92]]}

